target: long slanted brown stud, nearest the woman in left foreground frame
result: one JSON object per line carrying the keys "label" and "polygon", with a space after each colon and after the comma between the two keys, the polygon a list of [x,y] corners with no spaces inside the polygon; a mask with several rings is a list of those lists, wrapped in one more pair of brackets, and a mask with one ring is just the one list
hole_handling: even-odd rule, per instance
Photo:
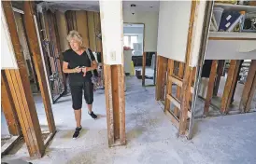
{"label": "long slanted brown stud, nearest the woman in left foreground frame", "polygon": [[32,53],[32,58],[35,62],[36,75],[38,78],[39,88],[41,96],[45,106],[45,112],[48,120],[49,130],[51,133],[56,132],[54,117],[50,104],[50,95],[47,88],[47,79],[44,73],[44,65],[41,59],[40,47],[38,44],[38,38],[36,34],[36,24],[34,18],[34,2],[25,1],[24,2],[24,25],[28,35],[28,44],[30,51]]}

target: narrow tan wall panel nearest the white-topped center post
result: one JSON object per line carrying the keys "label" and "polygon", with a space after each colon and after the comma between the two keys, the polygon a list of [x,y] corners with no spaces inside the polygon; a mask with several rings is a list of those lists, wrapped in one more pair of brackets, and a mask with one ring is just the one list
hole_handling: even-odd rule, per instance
{"label": "narrow tan wall panel nearest the white-topped center post", "polygon": [[87,12],[88,29],[89,29],[89,45],[92,51],[96,51],[96,35],[94,27],[94,12]]}

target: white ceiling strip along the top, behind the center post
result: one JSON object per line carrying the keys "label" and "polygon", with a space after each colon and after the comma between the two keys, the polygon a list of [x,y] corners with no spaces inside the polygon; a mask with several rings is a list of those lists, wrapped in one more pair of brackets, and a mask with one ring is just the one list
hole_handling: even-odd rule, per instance
{"label": "white ceiling strip along the top, behind the center post", "polygon": [[[99,11],[99,1],[52,1],[47,0],[43,3],[44,7],[56,10],[89,10]],[[139,11],[159,11],[159,1],[123,1],[124,11],[130,11],[131,5],[135,4],[135,12]]]}

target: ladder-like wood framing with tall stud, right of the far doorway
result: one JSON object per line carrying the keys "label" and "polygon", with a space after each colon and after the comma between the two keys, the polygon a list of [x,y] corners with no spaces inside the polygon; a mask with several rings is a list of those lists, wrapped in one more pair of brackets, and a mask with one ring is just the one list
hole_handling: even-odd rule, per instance
{"label": "ladder-like wood framing with tall stud, right of the far doorway", "polygon": [[[191,16],[189,22],[189,30],[187,34],[187,47],[185,54],[185,62],[178,62],[172,59],[167,59],[159,54],[158,58],[162,58],[162,61],[168,61],[168,75],[167,75],[167,85],[166,85],[166,95],[164,102],[164,112],[171,117],[173,124],[178,128],[178,136],[190,137],[190,128],[192,128],[192,104],[194,99],[194,83],[197,81],[195,76],[198,73],[196,67],[190,66],[192,60],[192,51],[194,51],[195,34],[198,32],[194,28],[198,21],[198,13],[202,12],[202,8],[205,8],[205,3],[200,4],[199,1],[192,1],[191,5]],[[203,14],[203,13],[201,13]],[[201,15],[202,17],[202,15]],[[201,18],[202,20],[202,18]],[[197,40],[198,41],[198,40]],[[165,54],[166,55],[166,54]],[[175,54],[178,55],[178,54]],[[157,86],[156,86],[156,100],[161,99],[161,94],[163,94],[160,89],[162,88],[162,78],[160,76],[164,72],[163,62],[161,65],[158,59],[157,65]],[[161,74],[160,74],[161,73]],[[172,89],[177,85],[178,91],[176,96],[173,95]]]}

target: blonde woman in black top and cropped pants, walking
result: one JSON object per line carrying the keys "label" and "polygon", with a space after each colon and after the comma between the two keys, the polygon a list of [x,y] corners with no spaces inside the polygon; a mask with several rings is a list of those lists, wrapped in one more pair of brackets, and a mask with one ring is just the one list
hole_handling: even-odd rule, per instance
{"label": "blonde woman in black top and cropped pants, walking", "polygon": [[[71,31],[66,37],[70,49],[64,52],[63,71],[69,76],[69,85],[72,95],[72,107],[75,111],[77,128],[73,135],[76,139],[82,130],[81,126],[81,107],[82,92],[88,106],[88,114],[96,119],[97,116],[92,112],[93,84],[92,70],[97,69],[97,62],[90,48],[82,47],[82,37],[77,31]],[[88,54],[89,53],[89,54]],[[91,60],[90,57],[91,56]]]}

